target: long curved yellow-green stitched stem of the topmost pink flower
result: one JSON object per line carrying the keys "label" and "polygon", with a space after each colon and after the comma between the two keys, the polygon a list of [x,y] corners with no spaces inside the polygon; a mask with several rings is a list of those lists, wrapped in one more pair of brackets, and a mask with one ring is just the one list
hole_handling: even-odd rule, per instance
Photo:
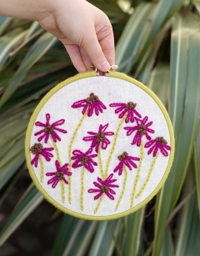
{"label": "long curved yellow-green stitched stem of the topmost pink flower", "polygon": [[[83,115],[82,118],[80,119],[80,121],[77,123],[77,127],[75,128],[73,134],[72,134],[72,138],[71,141],[69,143],[69,147],[68,147],[68,171],[72,172],[72,143],[74,142],[75,138],[77,137],[77,132],[79,130],[79,128],[82,126],[82,122],[84,120],[84,118],[87,116],[87,112],[86,111]],[[68,203],[72,203],[72,178],[68,177]]]}

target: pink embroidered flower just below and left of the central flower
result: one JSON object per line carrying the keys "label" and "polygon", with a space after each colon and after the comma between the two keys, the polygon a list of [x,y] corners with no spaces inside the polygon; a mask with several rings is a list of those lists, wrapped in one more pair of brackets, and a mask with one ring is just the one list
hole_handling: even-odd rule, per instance
{"label": "pink embroidered flower just below and left of the central flower", "polygon": [[97,163],[92,160],[92,158],[96,158],[97,154],[90,154],[92,153],[92,148],[89,148],[86,153],[83,153],[81,150],[73,150],[72,160],[75,160],[72,163],[72,168],[79,168],[84,166],[90,173],[93,173],[94,166],[97,166]]}

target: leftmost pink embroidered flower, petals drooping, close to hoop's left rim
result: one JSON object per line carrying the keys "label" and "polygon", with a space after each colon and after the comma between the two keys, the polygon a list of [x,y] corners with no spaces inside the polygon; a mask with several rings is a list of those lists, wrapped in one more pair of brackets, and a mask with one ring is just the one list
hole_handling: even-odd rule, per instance
{"label": "leftmost pink embroidered flower, petals drooping, close to hoop's left rim", "polygon": [[31,164],[37,167],[39,155],[42,155],[46,159],[47,162],[51,161],[53,154],[49,151],[52,151],[54,148],[43,148],[41,143],[34,143],[34,145],[30,148],[31,153],[35,154],[35,157],[32,158]]}

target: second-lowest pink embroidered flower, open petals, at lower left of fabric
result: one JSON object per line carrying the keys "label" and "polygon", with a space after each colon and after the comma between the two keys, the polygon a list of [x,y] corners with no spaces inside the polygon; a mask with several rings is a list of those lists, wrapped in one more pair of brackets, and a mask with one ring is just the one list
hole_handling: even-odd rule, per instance
{"label": "second-lowest pink embroidered flower, open petals, at lower left of fabric", "polygon": [[71,172],[67,172],[68,171],[68,168],[67,168],[68,163],[65,163],[64,165],[60,166],[60,163],[56,160],[55,165],[57,168],[56,172],[46,173],[47,176],[53,176],[52,178],[50,178],[47,181],[48,185],[52,184],[52,188],[56,188],[57,183],[61,180],[63,180],[63,182],[67,184],[68,182],[67,182],[67,179],[64,177],[64,175],[67,175],[67,176],[72,175]]}

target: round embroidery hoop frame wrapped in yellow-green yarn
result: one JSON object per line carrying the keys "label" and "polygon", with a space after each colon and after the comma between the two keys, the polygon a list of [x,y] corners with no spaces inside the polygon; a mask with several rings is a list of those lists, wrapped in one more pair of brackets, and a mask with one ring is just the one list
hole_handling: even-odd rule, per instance
{"label": "round embroidery hoop frame wrapped in yellow-green yarn", "polygon": [[42,195],[44,196],[44,198],[47,199],[48,202],[52,203],[55,207],[62,210],[62,212],[68,213],[77,218],[84,218],[84,219],[88,219],[88,220],[109,220],[109,219],[114,219],[114,218],[120,218],[120,217],[128,215],[129,213],[133,213],[133,212],[137,211],[138,208],[141,208],[141,207],[143,207],[144,204],[148,203],[153,198],[153,196],[155,196],[158,193],[160,188],[162,188],[163,183],[165,182],[166,178],[168,177],[168,173],[169,173],[170,168],[173,163],[173,155],[174,155],[173,126],[172,126],[171,120],[168,116],[168,112],[167,112],[166,108],[163,106],[163,103],[161,103],[161,101],[159,100],[159,98],[156,96],[155,93],[153,93],[149,88],[144,86],[143,83],[140,83],[137,80],[130,78],[123,73],[110,72],[108,74],[108,77],[119,78],[119,79],[125,80],[129,83],[133,83],[134,85],[138,86],[138,88],[141,88],[145,93],[148,93],[148,95],[151,98],[153,98],[155,103],[157,103],[158,107],[161,109],[163,116],[168,124],[168,131],[169,131],[169,135],[170,135],[170,146],[172,148],[169,153],[168,166],[166,168],[166,171],[165,171],[160,183],[158,183],[158,186],[153,190],[153,193],[151,193],[147,198],[145,198],[143,200],[143,202],[139,203],[135,207],[130,208],[122,213],[113,213],[112,215],[108,215],[108,216],[93,216],[93,215],[87,215],[84,213],[77,213],[75,211],[70,210],[69,208],[64,207],[62,204],[57,203],[57,201],[55,199],[53,199],[51,196],[49,196],[49,194],[44,190],[44,188],[42,187],[42,184],[37,179],[34,169],[32,168],[31,154],[30,154],[32,128],[34,126],[34,123],[37,121],[38,113],[40,113],[44,104],[47,103],[49,98],[51,98],[52,95],[54,95],[54,93],[57,93],[57,91],[59,91],[61,88],[67,86],[70,83],[73,83],[80,79],[92,78],[92,77],[96,77],[96,73],[94,71],[77,74],[75,77],[68,78],[67,80],[63,81],[62,83],[59,83],[55,88],[52,88],[52,90],[49,93],[47,93],[47,95],[44,98],[42,98],[41,102],[37,105],[37,108],[35,109],[34,113],[32,114],[32,118],[30,119],[30,122],[28,124],[28,130],[27,130],[26,141],[25,141],[25,154],[26,154],[26,159],[27,159],[28,170],[32,177],[32,180],[35,183],[37,189],[42,193]]}

